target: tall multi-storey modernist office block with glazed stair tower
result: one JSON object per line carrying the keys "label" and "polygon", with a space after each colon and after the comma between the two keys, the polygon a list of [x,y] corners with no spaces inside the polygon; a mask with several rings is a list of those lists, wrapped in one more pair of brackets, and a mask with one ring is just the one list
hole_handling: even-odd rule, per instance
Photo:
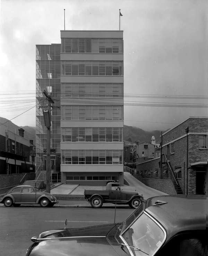
{"label": "tall multi-storey modernist office block with glazed stair tower", "polygon": [[[63,183],[105,185],[119,179],[123,184],[123,31],[64,30],[61,45],[36,47],[38,103],[44,103],[43,90],[55,102],[54,170],[60,163]],[[38,167],[46,148],[41,108],[36,140]]]}

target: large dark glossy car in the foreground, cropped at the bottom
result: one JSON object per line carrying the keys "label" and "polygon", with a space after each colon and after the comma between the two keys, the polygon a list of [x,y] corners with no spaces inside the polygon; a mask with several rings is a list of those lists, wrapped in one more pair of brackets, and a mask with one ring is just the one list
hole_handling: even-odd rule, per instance
{"label": "large dark glossy car in the foreground, cropped at the bottom", "polygon": [[207,199],[151,197],[123,223],[45,231],[26,256],[207,256]]}

